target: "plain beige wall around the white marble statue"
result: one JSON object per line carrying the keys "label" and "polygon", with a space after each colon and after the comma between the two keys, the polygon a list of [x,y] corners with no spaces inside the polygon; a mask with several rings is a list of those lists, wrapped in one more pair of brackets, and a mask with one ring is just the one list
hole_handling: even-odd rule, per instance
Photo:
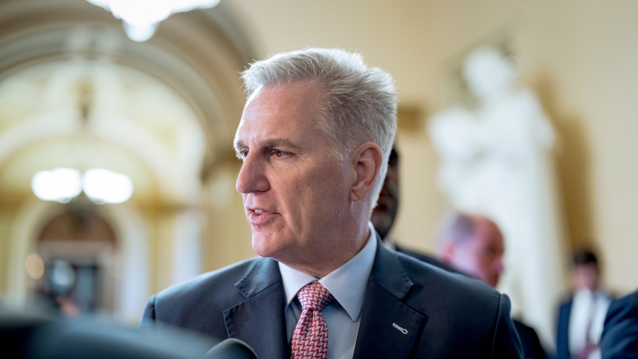
{"label": "plain beige wall around the white marble statue", "polygon": [[[353,49],[394,75],[403,106],[422,121],[443,107],[443,69],[473,45],[507,33],[561,135],[558,157],[570,242],[600,249],[608,286],[638,287],[635,1],[235,0],[258,57],[315,47]],[[422,126],[422,128],[424,128]],[[426,133],[399,132],[402,204],[394,235],[433,250],[446,209]],[[567,239],[566,239],[567,241]]]}

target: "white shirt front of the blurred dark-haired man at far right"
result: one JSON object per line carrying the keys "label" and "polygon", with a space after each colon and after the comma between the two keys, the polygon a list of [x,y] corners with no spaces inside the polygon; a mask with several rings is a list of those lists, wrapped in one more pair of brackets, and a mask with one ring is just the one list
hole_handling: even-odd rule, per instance
{"label": "white shirt front of the blurred dark-haired man at far right", "polygon": [[[585,348],[588,335],[589,342],[600,343],[609,304],[611,304],[611,298],[602,291],[591,293],[589,289],[579,289],[574,293],[567,329],[569,351],[572,355]],[[588,359],[598,358],[600,358],[600,349],[588,356]]]}

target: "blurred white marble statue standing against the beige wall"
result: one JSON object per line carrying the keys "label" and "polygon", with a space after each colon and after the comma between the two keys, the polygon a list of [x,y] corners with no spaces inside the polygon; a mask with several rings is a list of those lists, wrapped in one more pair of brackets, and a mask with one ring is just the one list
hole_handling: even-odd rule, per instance
{"label": "blurred white marble statue standing against the beige wall", "polygon": [[507,61],[484,47],[466,57],[463,75],[479,100],[431,118],[440,156],[438,184],[452,208],[486,215],[505,237],[505,271],[498,289],[512,316],[553,340],[563,293],[563,226],[551,149],[554,131],[535,94],[517,86]]}

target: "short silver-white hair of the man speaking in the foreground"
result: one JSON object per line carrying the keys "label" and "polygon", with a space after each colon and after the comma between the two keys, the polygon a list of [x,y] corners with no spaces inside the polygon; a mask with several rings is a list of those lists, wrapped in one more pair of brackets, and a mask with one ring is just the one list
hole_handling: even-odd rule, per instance
{"label": "short silver-white hair of the man speaking in the foreground", "polygon": [[371,190],[373,207],[385,181],[396,134],[397,92],[394,80],[380,68],[369,68],[356,52],[305,49],[256,61],[241,73],[248,95],[267,86],[313,82],[323,94],[315,128],[325,135],[330,155],[347,160],[357,146],[375,142],[383,162]]}

